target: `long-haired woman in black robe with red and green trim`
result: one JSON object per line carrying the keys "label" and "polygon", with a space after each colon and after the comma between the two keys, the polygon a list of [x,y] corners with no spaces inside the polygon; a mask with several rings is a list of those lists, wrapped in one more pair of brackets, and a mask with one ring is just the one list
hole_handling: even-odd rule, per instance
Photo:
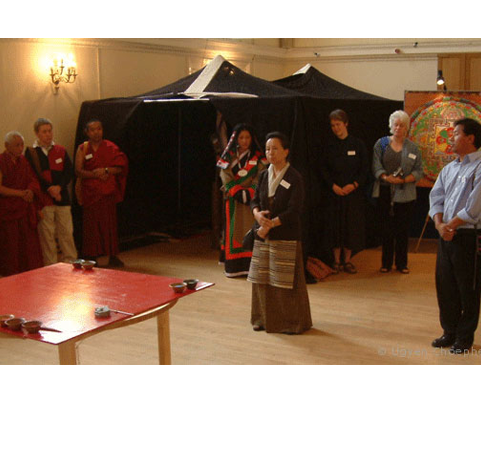
{"label": "long-haired woman in black robe with red and green trim", "polygon": [[247,275],[252,251],[242,247],[242,239],[252,227],[249,207],[259,174],[265,170],[254,130],[246,124],[234,127],[224,153],[217,162],[224,191],[224,229],[220,261],[227,277]]}

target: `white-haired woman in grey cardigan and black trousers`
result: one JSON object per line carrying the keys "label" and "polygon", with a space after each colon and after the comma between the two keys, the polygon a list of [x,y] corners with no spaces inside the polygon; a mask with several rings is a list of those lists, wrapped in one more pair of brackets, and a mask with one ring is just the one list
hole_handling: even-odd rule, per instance
{"label": "white-haired woman in grey cardigan and black trousers", "polygon": [[372,171],[376,182],[373,197],[378,198],[382,234],[381,272],[408,274],[409,226],[416,201],[416,183],[423,176],[422,157],[416,144],[407,139],[410,120],[404,111],[389,117],[392,136],[374,145]]}

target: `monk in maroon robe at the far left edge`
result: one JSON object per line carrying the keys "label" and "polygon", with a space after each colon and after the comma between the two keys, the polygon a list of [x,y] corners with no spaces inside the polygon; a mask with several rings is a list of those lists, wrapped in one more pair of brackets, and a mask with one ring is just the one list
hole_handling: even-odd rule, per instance
{"label": "monk in maroon robe at the far left edge", "polygon": [[22,155],[24,140],[12,131],[0,154],[0,275],[8,276],[43,266],[37,233],[35,199],[40,185]]}

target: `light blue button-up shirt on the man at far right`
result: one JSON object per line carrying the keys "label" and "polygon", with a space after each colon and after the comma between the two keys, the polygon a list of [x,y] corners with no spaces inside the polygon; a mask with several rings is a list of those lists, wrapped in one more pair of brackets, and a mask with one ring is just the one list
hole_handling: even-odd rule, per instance
{"label": "light blue button-up shirt on the man at far right", "polygon": [[466,155],[448,164],[439,174],[429,194],[429,215],[443,214],[448,223],[459,217],[465,223],[460,228],[481,228],[481,151]]}

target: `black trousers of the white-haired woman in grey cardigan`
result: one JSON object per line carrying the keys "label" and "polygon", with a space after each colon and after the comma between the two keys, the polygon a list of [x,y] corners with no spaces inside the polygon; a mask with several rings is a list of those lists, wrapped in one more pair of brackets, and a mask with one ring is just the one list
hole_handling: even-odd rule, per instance
{"label": "black trousers of the white-haired woman in grey cardigan", "polygon": [[414,211],[414,201],[394,203],[391,207],[390,187],[381,186],[379,219],[382,239],[382,266],[398,269],[408,265],[409,227]]}

